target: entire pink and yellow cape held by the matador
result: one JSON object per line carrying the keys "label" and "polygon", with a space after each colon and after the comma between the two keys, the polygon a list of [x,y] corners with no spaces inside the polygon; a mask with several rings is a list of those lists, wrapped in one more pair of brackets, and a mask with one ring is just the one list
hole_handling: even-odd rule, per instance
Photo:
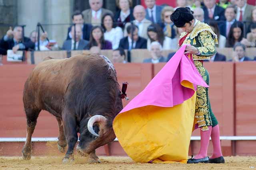
{"label": "entire pink and yellow cape held by the matador", "polygon": [[208,87],[183,45],[115,117],[120,145],[135,162],[187,162],[196,86]]}

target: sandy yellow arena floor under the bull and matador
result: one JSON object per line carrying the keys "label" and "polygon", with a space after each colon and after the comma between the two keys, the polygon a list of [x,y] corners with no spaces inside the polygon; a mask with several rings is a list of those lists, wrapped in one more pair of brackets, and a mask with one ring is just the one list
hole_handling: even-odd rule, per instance
{"label": "sandy yellow arena floor under the bull and matador", "polygon": [[170,169],[240,169],[256,170],[256,156],[225,157],[225,164],[141,164],[129,157],[101,156],[100,164],[84,164],[82,157],[75,157],[73,164],[62,164],[62,157],[0,157],[0,170],[170,170]]}

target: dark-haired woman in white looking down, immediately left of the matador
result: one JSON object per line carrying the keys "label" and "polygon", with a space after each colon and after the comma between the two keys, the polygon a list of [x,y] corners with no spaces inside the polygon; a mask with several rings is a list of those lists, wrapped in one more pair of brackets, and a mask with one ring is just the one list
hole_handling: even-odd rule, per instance
{"label": "dark-haired woman in white looking down, immediately left of the matador", "polygon": [[164,31],[162,28],[155,23],[152,23],[148,27],[148,41],[147,41],[147,48],[150,49],[150,44],[153,41],[157,41],[160,43],[164,50],[176,50],[178,49],[177,44],[178,41],[176,38],[171,39],[167,36],[164,36]]}

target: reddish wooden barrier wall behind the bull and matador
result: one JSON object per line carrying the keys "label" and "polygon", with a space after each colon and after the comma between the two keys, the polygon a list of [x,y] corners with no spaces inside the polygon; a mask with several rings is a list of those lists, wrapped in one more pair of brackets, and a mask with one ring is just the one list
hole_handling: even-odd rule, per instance
{"label": "reddish wooden barrier wall behind the bull and matador", "polygon": [[[128,81],[128,97],[134,98],[157,74],[165,63],[115,64],[118,82]],[[220,135],[256,136],[256,68],[254,62],[204,63],[210,72],[210,101],[220,123]],[[34,65],[4,64],[0,66],[0,137],[25,137],[26,118],[23,111],[22,90],[24,82]],[[127,104],[123,100],[124,106]],[[199,130],[193,132],[198,136]],[[33,137],[57,137],[58,126],[54,116],[42,111]],[[256,141],[222,141],[225,155],[256,155]],[[0,144],[1,146],[2,144]],[[112,143],[112,152],[124,154],[118,143]],[[192,141],[192,153],[199,149],[199,141]],[[233,148],[232,148],[233,147]],[[1,150],[1,148],[0,148]],[[102,150],[102,149],[100,149]],[[210,145],[209,154],[212,152]],[[20,153],[20,152],[19,152]],[[1,155],[1,153],[0,153]]]}

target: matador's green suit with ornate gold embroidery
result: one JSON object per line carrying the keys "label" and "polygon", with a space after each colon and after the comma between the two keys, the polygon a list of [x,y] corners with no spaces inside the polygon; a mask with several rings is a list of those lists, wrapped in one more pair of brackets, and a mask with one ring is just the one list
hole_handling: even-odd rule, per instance
{"label": "matador's green suit with ornate gold embroidery", "polygon": [[[186,34],[186,32],[183,32],[180,37],[182,38]],[[209,73],[203,66],[203,60],[209,60],[212,55],[216,54],[215,43],[218,43],[217,35],[212,31],[210,26],[197,20],[193,30],[188,33],[182,43],[193,45],[200,52],[199,55],[193,54],[192,57],[198,72],[208,85]],[[197,86],[195,117],[198,127],[201,127],[202,131],[207,131],[208,126],[214,127],[218,125],[218,121],[211,109],[208,88]]]}

